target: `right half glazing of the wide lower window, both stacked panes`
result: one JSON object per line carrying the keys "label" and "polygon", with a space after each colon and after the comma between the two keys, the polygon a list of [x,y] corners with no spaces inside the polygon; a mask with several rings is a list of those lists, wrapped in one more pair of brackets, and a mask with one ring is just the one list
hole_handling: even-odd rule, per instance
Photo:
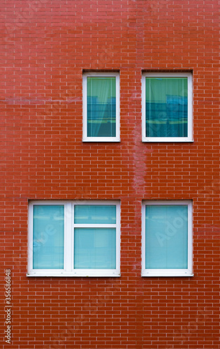
{"label": "right half glazing of the wide lower window, both stacked panes", "polygon": [[[116,223],[115,205],[75,205],[74,268],[116,268]],[[96,224],[92,228],[91,224]]]}

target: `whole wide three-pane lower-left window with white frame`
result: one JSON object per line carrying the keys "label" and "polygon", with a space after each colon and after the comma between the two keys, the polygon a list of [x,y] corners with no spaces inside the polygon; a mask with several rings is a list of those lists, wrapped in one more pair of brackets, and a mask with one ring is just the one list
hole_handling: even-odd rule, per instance
{"label": "whole wide three-pane lower-left window with white frame", "polygon": [[29,204],[29,276],[119,276],[119,203]]}

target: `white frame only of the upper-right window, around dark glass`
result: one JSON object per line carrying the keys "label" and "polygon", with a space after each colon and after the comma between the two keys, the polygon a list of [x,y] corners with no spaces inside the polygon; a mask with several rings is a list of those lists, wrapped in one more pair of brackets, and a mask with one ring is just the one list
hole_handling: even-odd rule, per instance
{"label": "white frame only of the upper-right window, around dark glass", "polygon": [[[145,77],[187,77],[188,81],[188,136],[146,137],[146,80]],[[142,74],[142,142],[193,142],[193,76],[191,73]]]}

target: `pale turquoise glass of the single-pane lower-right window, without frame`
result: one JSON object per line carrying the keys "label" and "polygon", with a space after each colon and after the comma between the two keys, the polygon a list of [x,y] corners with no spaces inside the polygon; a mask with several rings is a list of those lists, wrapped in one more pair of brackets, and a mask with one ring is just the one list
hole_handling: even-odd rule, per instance
{"label": "pale turquoise glass of the single-pane lower-right window, without frame", "polygon": [[188,207],[146,206],[146,268],[186,269],[188,265]]}

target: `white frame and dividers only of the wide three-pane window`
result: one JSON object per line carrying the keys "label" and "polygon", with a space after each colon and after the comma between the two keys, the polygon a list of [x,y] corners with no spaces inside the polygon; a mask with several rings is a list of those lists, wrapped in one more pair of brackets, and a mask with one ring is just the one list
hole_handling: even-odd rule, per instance
{"label": "white frame and dividers only of the wide three-pane window", "polygon": [[[34,205],[64,205],[64,269],[33,268],[33,212]],[[85,228],[85,224],[74,223],[75,205],[115,205],[115,224],[87,224],[87,228],[116,229],[116,268],[115,269],[74,269],[74,228]],[[29,202],[29,253],[27,276],[120,276],[120,203],[118,201],[80,201],[39,200]]]}

